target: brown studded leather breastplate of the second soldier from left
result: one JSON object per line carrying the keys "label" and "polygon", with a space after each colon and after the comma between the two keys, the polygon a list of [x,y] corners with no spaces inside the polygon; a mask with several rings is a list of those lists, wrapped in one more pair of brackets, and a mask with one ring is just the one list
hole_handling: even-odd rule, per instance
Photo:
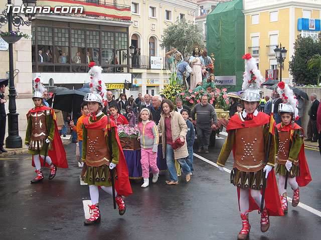
{"label": "brown studded leather breastplate of the second soldier from left", "polygon": [[89,166],[109,165],[110,153],[103,129],[87,129],[86,164]]}

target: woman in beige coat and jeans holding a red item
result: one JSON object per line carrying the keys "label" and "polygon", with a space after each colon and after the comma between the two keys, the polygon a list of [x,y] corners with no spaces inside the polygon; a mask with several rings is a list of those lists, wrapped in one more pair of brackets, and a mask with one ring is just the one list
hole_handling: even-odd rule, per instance
{"label": "woman in beige coat and jeans holding a red item", "polygon": [[[161,104],[162,115],[157,125],[159,135],[162,136],[163,155],[166,153],[166,163],[169,169],[171,181],[166,181],[169,185],[179,184],[175,168],[175,159],[180,163],[186,174],[186,181],[191,179],[191,168],[186,163],[185,157],[189,155],[186,144],[187,125],[183,116],[174,110],[174,104],[171,100],[165,99]],[[173,149],[171,143],[180,138],[184,145]],[[173,156],[174,155],[174,156]]]}

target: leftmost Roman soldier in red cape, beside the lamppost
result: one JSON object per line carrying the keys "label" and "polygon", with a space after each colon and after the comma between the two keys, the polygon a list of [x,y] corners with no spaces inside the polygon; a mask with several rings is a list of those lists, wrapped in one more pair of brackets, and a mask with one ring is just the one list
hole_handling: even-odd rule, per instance
{"label": "leftmost Roman soldier in red cape, beside the lamppost", "polygon": [[27,113],[27,131],[25,144],[32,154],[32,165],[36,167],[37,176],[31,183],[44,179],[41,170],[42,162],[46,159],[45,166],[50,166],[49,179],[56,175],[58,167],[68,167],[65,148],[62,144],[60,134],[56,124],[56,115],[51,107],[44,104],[43,92],[46,90],[42,80],[34,79],[35,107]]}

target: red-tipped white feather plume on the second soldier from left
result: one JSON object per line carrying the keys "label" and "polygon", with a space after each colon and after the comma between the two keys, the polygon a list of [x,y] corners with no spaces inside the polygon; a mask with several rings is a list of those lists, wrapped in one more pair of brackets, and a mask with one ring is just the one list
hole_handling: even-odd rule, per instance
{"label": "red-tipped white feather plume on the second soldier from left", "polygon": [[91,66],[89,70],[90,75],[90,91],[97,92],[101,95],[103,103],[107,103],[107,89],[105,85],[105,81],[102,75],[101,66]]}

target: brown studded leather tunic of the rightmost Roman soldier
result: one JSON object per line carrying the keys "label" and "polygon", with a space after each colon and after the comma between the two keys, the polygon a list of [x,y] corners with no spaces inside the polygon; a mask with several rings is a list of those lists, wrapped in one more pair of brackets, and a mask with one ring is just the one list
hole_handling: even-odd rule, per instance
{"label": "brown studded leather tunic of the rightmost Roman soldier", "polygon": [[[290,133],[287,131],[278,131],[279,136],[279,149],[277,153],[277,163],[285,164],[286,160],[289,158],[290,152]],[[294,165],[299,164],[299,155],[293,162]]]}

